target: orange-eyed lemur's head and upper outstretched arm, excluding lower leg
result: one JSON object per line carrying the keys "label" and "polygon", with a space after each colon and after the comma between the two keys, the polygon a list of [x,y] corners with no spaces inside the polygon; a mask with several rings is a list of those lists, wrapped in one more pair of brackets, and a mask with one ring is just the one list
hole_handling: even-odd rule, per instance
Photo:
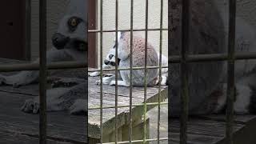
{"label": "orange-eyed lemur's head and upper outstretched arm, excluding lower leg", "polygon": [[[81,6],[80,6],[81,5]],[[60,20],[58,30],[52,36],[53,47],[46,52],[46,62],[83,61],[87,51],[86,1],[72,0],[66,15]],[[34,63],[38,63],[36,60]],[[54,70],[51,70],[53,72]],[[38,70],[22,71],[15,75],[0,75],[0,85],[22,86],[38,79]]]}

